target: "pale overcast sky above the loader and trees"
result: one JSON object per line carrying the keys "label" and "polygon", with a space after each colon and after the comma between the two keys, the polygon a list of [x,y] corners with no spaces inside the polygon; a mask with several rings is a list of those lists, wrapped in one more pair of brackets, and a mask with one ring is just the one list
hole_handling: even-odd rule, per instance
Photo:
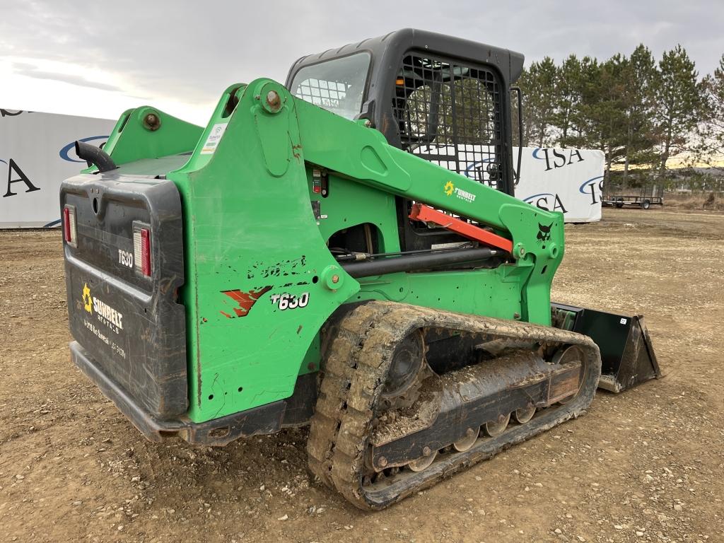
{"label": "pale overcast sky above the loader and trees", "polygon": [[0,0],[0,107],[116,119],[151,104],[205,125],[231,83],[284,81],[299,56],[413,27],[520,51],[526,64],[681,43],[724,53],[722,0]]}

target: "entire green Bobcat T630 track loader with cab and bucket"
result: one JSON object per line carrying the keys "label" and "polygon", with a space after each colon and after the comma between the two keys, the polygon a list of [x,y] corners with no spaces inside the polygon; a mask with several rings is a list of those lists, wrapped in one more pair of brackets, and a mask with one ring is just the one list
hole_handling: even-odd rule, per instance
{"label": "entire green Bobcat T630 track loader with cab and bucket", "polygon": [[312,473],[363,509],[658,376],[640,316],[551,303],[563,215],[513,196],[522,68],[399,30],[230,86],[206,127],[146,106],[77,142],[72,361],[152,441],[311,424]]}

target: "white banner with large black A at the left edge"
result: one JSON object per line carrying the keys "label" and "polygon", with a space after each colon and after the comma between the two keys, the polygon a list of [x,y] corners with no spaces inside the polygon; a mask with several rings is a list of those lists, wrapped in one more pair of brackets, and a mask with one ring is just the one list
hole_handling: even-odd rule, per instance
{"label": "white banner with large black A at the left edge", "polygon": [[95,146],[115,121],[0,109],[0,228],[60,224],[60,184],[86,167],[75,140]]}

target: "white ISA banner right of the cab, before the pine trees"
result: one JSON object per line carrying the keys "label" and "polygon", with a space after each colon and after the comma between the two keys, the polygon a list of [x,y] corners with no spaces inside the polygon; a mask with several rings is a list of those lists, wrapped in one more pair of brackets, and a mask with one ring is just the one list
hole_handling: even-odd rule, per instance
{"label": "white ISA banner right of the cab, before the pine trees", "polygon": [[[518,148],[513,148],[513,162]],[[601,220],[605,156],[592,149],[523,147],[515,196],[540,209],[563,211],[565,222]]]}

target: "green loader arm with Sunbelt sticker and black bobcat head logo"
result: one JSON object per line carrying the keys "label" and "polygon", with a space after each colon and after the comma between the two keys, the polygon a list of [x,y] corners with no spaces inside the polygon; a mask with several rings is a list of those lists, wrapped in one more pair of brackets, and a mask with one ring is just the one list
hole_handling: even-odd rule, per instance
{"label": "green loader arm with Sunbelt sticker and black bobcat head logo", "polygon": [[[523,320],[550,325],[550,282],[564,253],[563,214],[537,209],[392,147],[362,122],[349,122],[288,94],[285,100],[294,101],[306,161],[355,182],[487,224],[512,240],[515,263],[528,274],[521,293]],[[339,152],[340,144],[345,153]],[[548,243],[539,243],[540,224],[550,230]]]}

